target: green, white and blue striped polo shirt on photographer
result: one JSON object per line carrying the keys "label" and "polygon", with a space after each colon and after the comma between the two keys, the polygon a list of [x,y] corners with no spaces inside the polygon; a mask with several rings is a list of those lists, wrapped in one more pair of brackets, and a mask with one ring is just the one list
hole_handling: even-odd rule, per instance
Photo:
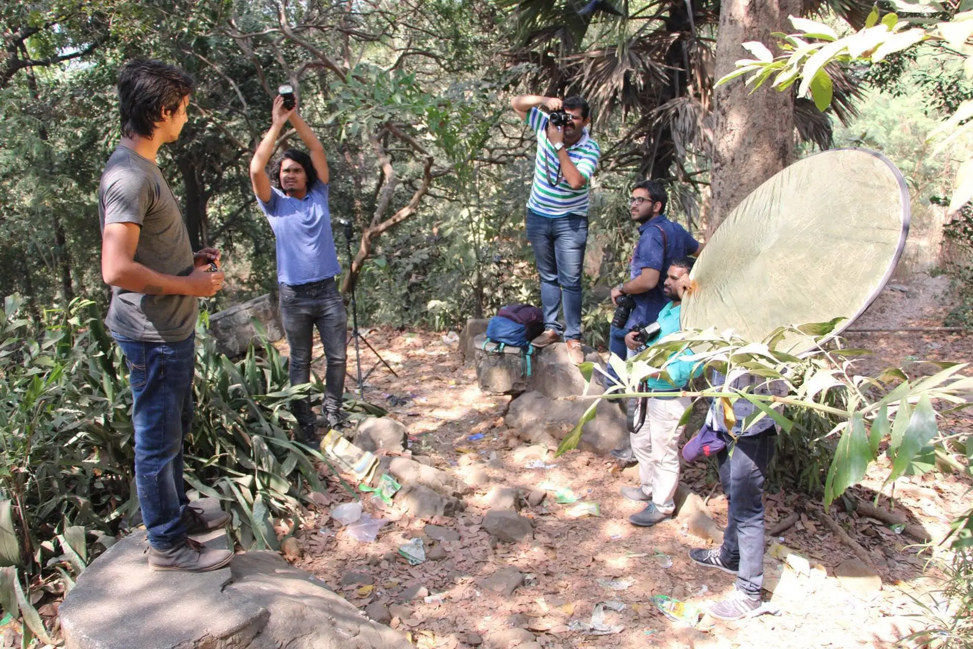
{"label": "green, white and blue striped polo shirt on photographer", "polygon": [[[537,133],[537,156],[534,158],[534,181],[527,208],[541,216],[558,218],[568,214],[588,215],[591,184],[572,189],[560,173],[558,152],[547,138],[547,115],[536,108],[527,113],[526,122]],[[567,155],[585,180],[591,180],[601,149],[585,128],[581,139],[567,147]]]}

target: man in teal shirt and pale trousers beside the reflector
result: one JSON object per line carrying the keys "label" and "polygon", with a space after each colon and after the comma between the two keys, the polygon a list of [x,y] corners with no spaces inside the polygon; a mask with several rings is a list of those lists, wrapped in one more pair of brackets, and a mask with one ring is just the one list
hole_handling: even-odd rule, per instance
{"label": "man in teal shirt and pale trousers beside the reflector", "polygon": [[[646,344],[656,343],[680,330],[679,310],[682,296],[689,286],[689,271],[695,260],[682,257],[672,262],[666,273],[663,293],[671,300],[659,312],[656,320],[659,333]],[[639,348],[636,333],[625,337],[629,349]],[[702,368],[686,360],[689,350],[673,352],[663,368],[643,383],[647,392],[681,390]],[[663,376],[665,370],[667,378]],[[637,400],[631,425],[631,450],[638,461],[638,487],[622,487],[622,495],[630,500],[647,502],[645,509],[629,517],[635,525],[649,526],[672,517],[675,510],[675,489],[679,485],[679,419],[692,405],[689,397],[645,397]]]}

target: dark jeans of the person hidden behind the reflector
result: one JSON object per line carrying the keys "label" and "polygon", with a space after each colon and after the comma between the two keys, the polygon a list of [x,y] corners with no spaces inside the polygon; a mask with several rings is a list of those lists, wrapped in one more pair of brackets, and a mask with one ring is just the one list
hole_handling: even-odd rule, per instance
{"label": "dark jeans of the person hidden behind the reflector", "polygon": [[729,502],[721,559],[739,563],[737,589],[760,596],[764,585],[764,480],[774,457],[774,429],[740,437],[733,452],[720,451],[720,482]]}

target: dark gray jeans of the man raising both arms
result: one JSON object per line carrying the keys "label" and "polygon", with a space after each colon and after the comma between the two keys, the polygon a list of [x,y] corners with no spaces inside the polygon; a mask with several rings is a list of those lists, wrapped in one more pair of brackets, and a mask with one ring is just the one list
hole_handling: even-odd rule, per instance
{"label": "dark gray jeans of the man raising both arms", "polygon": [[[324,412],[336,413],[342,408],[344,372],[347,364],[345,337],[348,314],[334,278],[309,284],[280,284],[280,321],[291,347],[288,373],[291,385],[310,379],[310,353],[314,327],[317,327],[327,358],[325,371]],[[302,428],[314,424],[310,398],[294,402],[294,416]]]}

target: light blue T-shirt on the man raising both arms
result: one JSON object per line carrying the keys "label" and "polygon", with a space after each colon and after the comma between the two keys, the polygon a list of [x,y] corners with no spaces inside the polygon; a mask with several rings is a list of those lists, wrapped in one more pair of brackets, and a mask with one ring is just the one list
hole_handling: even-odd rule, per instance
{"label": "light blue T-shirt on the man raising both arms", "polygon": [[306,284],[342,271],[331,233],[328,185],[311,185],[305,198],[292,198],[270,188],[270,201],[257,198],[277,239],[277,281]]}

